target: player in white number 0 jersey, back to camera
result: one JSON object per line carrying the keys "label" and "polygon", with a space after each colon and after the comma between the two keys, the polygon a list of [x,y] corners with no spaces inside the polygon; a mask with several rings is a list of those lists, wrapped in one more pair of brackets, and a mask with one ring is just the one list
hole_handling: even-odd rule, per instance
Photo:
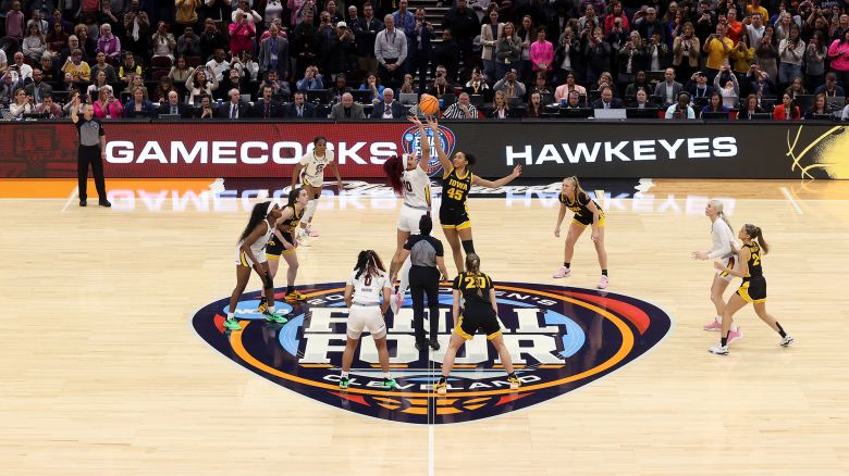
{"label": "player in white number 0 jersey, back to camera", "polygon": [[[378,348],[378,360],[383,371],[383,388],[397,387],[389,373],[389,350],[386,349],[386,323],[383,314],[389,309],[390,291],[392,283],[389,280],[383,262],[373,250],[360,251],[357,256],[357,265],[354,273],[345,283],[345,304],[348,306],[348,324],[346,334],[348,340],[345,343],[345,352],[342,354],[342,377],[339,386],[348,388],[350,378],[350,363],[354,352],[359,346],[359,336],[362,330],[368,330],[374,338],[374,347]],[[381,303],[381,298],[383,302]]]}

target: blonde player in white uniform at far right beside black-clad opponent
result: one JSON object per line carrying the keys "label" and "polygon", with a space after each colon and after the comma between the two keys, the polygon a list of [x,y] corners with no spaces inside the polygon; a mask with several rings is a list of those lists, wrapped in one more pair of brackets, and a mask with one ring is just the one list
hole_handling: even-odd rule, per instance
{"label": "blonde player in white uniform at far right beside black-clad opponent", "polygon": [[[713,240],[713,248],[710,251],[696,251],[692,253],[694,260],[718,260],[723,267],[737,270],[740,263],[736,262],[736,254],[731,245],[734,240],[734,231],[731,231],[731,224],[723,213],[723,202],[719,200],[711,200],[704,208],[704,214],[711,218],[711,239]],[[723,293],[728,288],[728,284],[734,279],[734,276],[724,272],[716,271],[713,277],[713,285],[711,285],[711,301],[714,308],[716,308],[716,317],[710,323],[704,325],[704,330],[719,330],[722,329],[723,312],[725,311],[725,300]],[[737,324],[731,323],[731,331],[728,335],[728,343],[734,342],[742,338],[742,331],[737,327]]]}

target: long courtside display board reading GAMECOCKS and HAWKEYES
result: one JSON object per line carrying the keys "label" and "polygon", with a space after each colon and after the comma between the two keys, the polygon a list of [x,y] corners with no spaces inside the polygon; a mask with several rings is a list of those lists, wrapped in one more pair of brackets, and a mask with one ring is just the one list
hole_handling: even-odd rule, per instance
{"label": "long courtside display board reading GAMECOCKS and HAWKEYES", "polygon": [[[409,123],[378,121],[113,122],[104,129],[113,178],[286,180],[317,136],[327,137],[343,178],[381,177],[387,158],[418,150],[421,139]],[[445,121],[440,140],[448,152],[475,154],[475,173],[485,177],[521,164],[522,176],[540,178],[846,178],[845,131],[798,121]],[[74,177],[77,143],[69,122],[2,124],[0,177]],[[436,175],[435,150],[429,165]]]}

